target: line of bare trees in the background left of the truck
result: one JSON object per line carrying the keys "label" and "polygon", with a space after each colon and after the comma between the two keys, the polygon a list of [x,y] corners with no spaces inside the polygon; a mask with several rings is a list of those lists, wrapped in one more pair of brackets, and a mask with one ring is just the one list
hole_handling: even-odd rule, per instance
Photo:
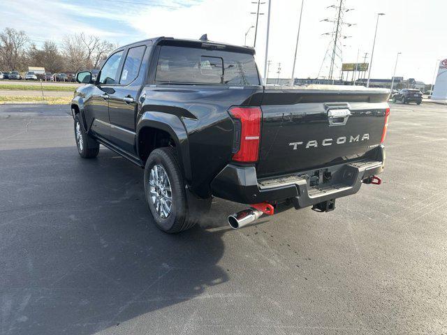
{"label": "line of bare trees in the background left of the truck", "polygon": [[67,35],[60,45],[45,40],[37,47],[24,31],[5,28],[0,32],[0,70],[27,71],[41,66],[51,73],[77,73],[98,68],[117,45],[84,33]]}

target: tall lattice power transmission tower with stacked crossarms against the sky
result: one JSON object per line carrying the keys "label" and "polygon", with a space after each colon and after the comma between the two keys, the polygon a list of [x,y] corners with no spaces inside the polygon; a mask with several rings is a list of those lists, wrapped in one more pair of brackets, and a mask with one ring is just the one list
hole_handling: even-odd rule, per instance
{"label": "tall lattice power transmission tower with stacked crossarms against the sky", "polygon": [[332,6],[328,6],[327,8],[332,8],[332,10],[335,10],[335,18],[333,20],[330,19],[324,19],[321,20],[321,22],[330,22],[332,23],[332,31],[322,34],[327,35],[331,37],[330,43],[328,44],[328,49],[325,52],[325,55],[323,57],[323,62],[321,63],[320,70],[318,71],[318,76],[320,76],[321,70],[328,70],[328,80],[332,80],[332,84],[334,84],[335,81],[335,73],[336,70],[339,69],[340,73],[342,70],[342,62],[343,62],[343,53],[342,48],[344,45],[342,45],[342,40],[346,38],[350,38],[351,36],[345,36],[342,34],[342,27],[351,27],[355,24],[348,23],[344,21],[344,15],[345,13],[349,12],[350,10],[353,10],[353,8],[346,8],[344,6],[345,0],[337,0],[337,4],[334,4]]}

